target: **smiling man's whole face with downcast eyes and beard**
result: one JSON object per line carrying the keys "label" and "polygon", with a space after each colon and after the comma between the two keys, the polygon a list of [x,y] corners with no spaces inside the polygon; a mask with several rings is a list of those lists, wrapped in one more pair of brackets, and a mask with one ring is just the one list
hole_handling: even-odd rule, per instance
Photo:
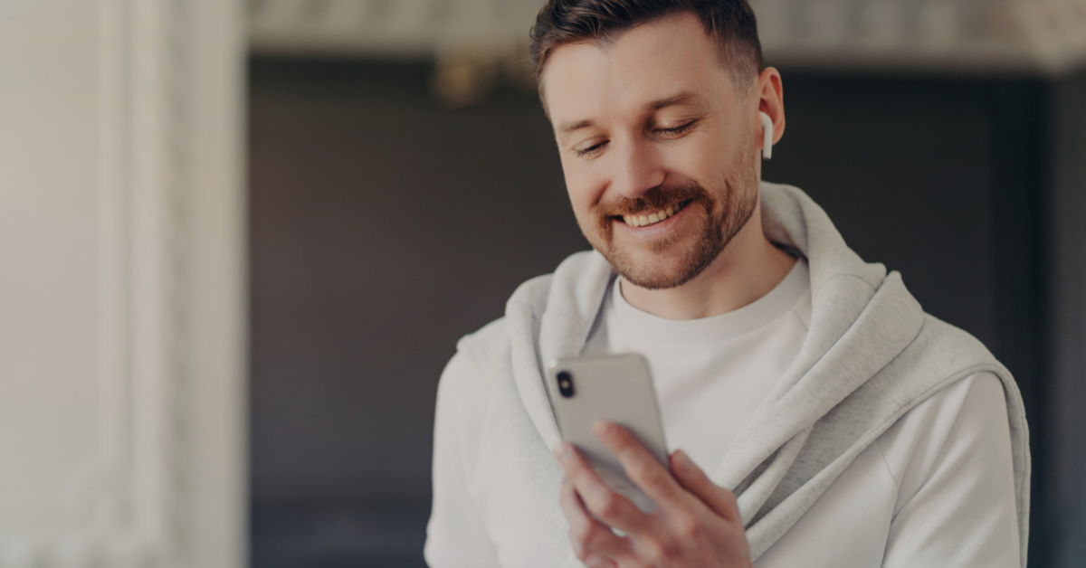
{"label": "smiling man's whole face with downcast eyes and beard", "polygon": [[693,279],[755,211],[756,108],[696,16],[561,46],[542,88],[581,231],[630,282]]}

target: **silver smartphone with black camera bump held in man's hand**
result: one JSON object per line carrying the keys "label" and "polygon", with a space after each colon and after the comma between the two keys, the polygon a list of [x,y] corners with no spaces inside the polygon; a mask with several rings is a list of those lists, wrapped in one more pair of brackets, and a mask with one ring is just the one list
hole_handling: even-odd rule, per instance
{"label": "silver smartphone with black camera bump held in man's hand", "polygon": [[637,354],[564,357],[547,365],[547,394],[563,440],[572,443],[605,483],[645,513],[656,504],[592,432],[596,420],[624,426],[668,467],[656,390],[645,357]]}

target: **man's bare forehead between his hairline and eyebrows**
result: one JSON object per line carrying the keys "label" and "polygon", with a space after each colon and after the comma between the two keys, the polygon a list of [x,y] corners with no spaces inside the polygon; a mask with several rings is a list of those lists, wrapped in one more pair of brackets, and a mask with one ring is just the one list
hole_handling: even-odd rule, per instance
{"label": "man's bare forehead between his hairline and eyebrows", "polygon": [[617,118],[677,92],[707,101],[734,96],[717,45],[689,13],[634,27],[610,45],[560,46],[541,80],[554,124]]}

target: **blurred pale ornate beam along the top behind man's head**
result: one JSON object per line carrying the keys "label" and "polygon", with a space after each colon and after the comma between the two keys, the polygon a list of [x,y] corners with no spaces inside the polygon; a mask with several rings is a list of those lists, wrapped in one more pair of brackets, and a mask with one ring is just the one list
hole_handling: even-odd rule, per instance
{"label": "blurred pale ornate beam along the top behind man's head", "polygon": [[[1086,0],[749,1],[771,64],[1041,75],[1086,65]],[[251,0],[249,39],[258,53],[432,56],[527,43],[543,3]]]}

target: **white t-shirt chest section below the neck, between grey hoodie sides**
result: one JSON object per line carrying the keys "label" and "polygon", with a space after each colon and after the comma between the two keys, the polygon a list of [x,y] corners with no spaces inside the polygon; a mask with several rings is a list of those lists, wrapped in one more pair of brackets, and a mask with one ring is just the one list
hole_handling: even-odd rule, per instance
{"label": "white t-shirt chest section below the neck, between grey hoodie sides", "polygon": [[630,305],[621,279],[607,291],[584,354],[648,361],[668,450],[711,475],[755,408],[792,365],[810,325],[810,275],[796,262],[758,301],[702,319],[664,319]]}

